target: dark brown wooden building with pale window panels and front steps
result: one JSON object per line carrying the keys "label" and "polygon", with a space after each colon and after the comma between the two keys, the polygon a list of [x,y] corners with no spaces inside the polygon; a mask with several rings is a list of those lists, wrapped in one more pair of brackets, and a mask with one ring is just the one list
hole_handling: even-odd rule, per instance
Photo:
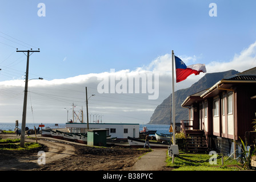
{"label": "dark brown wooden building with pale window panels and front steps", "polygon": [[[256,118],[256,67],[223,78],[211,88],[186,98],[189,125],[205,133],[207,147],[222,154],[234,151],[233,141],[245,140]],[[239,147],[235,146],[239,150]]]}

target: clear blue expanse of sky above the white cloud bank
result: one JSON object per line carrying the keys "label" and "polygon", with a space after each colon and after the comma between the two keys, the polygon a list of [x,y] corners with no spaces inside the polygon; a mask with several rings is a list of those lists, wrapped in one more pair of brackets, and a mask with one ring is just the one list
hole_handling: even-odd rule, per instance
{"label": "clear blue expanse of sky above the white cloud bank", "polygon": [[[40,2],[46,5],[45,17],[37,15]],[[211,2],[217,5],[217,17],[209,16]],[[256,40],[255,5],[254,1],[1,1],[1,32],[34,47],[10,42],[0,33],[5,37],[0,37],[5,43],[0,43],[0,66],[25,71],[26,57],[9,67],[22,56],[13,53],[14,47],[40,48],[31,56],[30,73],[49,79],[111,68],[133,70],[171,50],[195,55],[200,63],[229,61]],[[10,73],[0,81],[12,76],[19,75]]]}

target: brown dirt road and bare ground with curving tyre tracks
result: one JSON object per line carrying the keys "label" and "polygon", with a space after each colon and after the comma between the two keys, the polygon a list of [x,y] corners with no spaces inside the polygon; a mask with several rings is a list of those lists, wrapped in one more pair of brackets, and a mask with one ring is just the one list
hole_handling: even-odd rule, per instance
{"label": "brown dirt road and bare ground with curving tyre tracks", "polygon": [[[16,135],[0,135],[1,138],[17,138]],[[35,142],[27,139],[26,142]],[[0,171],[110,171],[124,170],[137,162],[147,149],[89,147],[85,144],[53,138],[38,137],[42,148],[31,151],[0,150]],[[38,164],[38,151],[45,152],[46,164]]]}

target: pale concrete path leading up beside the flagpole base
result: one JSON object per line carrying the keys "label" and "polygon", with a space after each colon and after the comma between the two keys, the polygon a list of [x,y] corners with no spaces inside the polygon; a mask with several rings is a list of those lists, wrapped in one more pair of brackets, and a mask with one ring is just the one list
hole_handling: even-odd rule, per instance
{"label": "pale concrete path leading up beside the flagpole base", "polygon": [[162,171],[166,166],[167,149],[153,148],[137,160],[133,167],[127,168],[129,171]]}

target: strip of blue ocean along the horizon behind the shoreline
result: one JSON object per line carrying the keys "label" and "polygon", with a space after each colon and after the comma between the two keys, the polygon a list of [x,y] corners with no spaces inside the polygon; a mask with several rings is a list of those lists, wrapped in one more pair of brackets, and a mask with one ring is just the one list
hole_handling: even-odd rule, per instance
{"label": "strip of blue ocean along the horizon behind the shoreline", "polygon": [[[41,125],[41,123],[26,123],[26,127],[29,127],[29,129],[34,129],[34,126],[38,128],[38,126]],[[65,123],[58,123],[58,126],[55,126],[55,123],[43,123],[45,127],[50,127],[57,129],[64,128]],[[148,130],[157,130],[157,133],[164,133],[164,134],[170,134],[169,133],[169,127],[170,125],[139,125],[139,131],[143,130],[143,127],[147,127]],[[21,129],[21,123],[19,123],[18,126],[19,129]],[[11,130],[14,131],[15,129],[15,122],[13,123],[0,123],[0,130]],[[41,129],[41,128],[40,128]]]}

